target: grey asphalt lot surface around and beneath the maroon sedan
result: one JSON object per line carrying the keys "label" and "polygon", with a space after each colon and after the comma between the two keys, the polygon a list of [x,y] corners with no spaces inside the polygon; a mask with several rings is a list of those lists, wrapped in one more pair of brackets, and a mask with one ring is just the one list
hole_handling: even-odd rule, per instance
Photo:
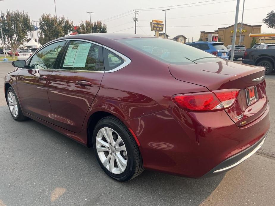
{"label": "grey asphalt lot surface around and beneath the maroon sedan", "polygon": [[92,148],[33,120],[12,119],[0,62],[0,206],[9,205],[274,205],[275,73],[266,77],[271,129],[262,148],[226,174],[189,179],[144,171],[120,183],[107,176]]}

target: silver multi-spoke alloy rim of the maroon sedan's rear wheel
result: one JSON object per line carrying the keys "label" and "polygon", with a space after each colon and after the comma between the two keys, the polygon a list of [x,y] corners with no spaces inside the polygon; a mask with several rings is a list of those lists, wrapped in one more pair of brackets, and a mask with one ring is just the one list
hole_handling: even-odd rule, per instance
{"label": "silver multi-spoke alloy rim of the maroon sedan's rear wheel", "polygon": [[114,174],[121,174],[127,166],[127,151],[123,140],[109,127],[101,128],[96,135],[96,150],[103,166]]}

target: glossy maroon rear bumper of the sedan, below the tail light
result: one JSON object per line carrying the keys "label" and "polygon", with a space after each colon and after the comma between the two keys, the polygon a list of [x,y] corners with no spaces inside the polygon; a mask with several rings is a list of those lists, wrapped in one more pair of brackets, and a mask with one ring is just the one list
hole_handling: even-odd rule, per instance
{"label": "glossy maroon rear bumper of the sedan, below the tail light", "polygon": [[140,142],[145,169],[202,178],[225,172],[254,153],[252,148],[270,128],[269,105],[260,117],[242,127],[225,111],[186,112],[178,107],[125,124]]}

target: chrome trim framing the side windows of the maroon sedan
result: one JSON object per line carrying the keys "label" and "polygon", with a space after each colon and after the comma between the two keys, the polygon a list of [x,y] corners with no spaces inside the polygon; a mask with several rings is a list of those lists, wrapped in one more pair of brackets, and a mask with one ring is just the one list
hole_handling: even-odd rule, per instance
{"label": "chrome trim framing the side windows of the maroon sedan", "polygon": [[[99,44],[99,43],[96,43],[96,42],[93,42],[93,41],[90,41],[90,40],[86,40],[86,39],[60,39],[60,40],[57,40],[57,41],[54,41],[54,42],[51,42],[49,44],[46,44],[46,45],[43,45],[42,47],[40,47],[38,50],[36,50],[32,56],[30,56],[29,58],[32,58],[37,52],[39,52],[40,50],[42,50],[43,48],[45,48],[46,46],[49,46],[51,44],[54,44],[56,42],[63,42],[63,41],[68,41],[68,40],[71,40],[71,41],[82,41],[82,42],[88,42],[88,43],[91,43],[91,44],[95,44],[95,45],[98,45],[98,46],[101,46],[111,52],[113,52],[114,54],[116,54],[117,56],[119,56],[120,58],[122,58],[124,60],[124,63],[122,63],[120,66],[117,66],[116,68],[114,69],[111,69],[109,71],[89,71],[89,70],[70,70],[70,69],[25,69],[25,68],[21,68],[22,70],[41,70],[41,71],[46,71],[46,70],[50,70],[50,71],[70,71],[70,72],[92,72],[92,73],[111,73],[111,72],[115,72],[117,70],[120,70],[122,69],[123,67],[129,65],[131,63],[131,59],[129,59],[127,56],[124,56],[123,54],[117,52],[116,50],[113,50],[105,45],[102,45],[102,44]],[[105,69],[105,68],[104,68]]]}

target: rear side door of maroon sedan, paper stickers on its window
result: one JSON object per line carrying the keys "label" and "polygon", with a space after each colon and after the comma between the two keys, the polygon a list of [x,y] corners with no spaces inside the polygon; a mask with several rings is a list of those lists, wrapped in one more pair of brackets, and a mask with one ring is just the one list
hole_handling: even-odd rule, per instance
{"label": "rear side door of maroon sedan, paper stickers on its window", "polygon": [[102,45],[71,40],[48,81],[52,121],[79,133],[104,75]]}

